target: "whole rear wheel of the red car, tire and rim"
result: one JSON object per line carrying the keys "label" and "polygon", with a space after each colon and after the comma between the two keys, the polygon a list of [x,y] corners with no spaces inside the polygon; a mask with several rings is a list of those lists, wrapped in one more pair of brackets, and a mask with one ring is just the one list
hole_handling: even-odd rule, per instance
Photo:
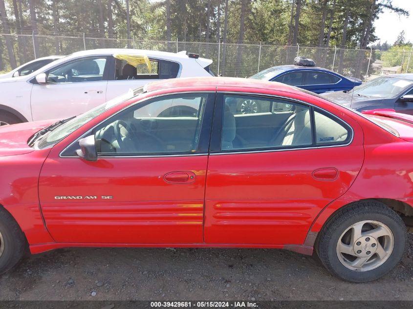
{"label": "whole rear wheel of the red car, tire and rim", "polygon": [[317,253],[337,277],[368,282],[389,272],[406,246],[406,227],[397,213],[377,201],[338,211],[322,229]]}

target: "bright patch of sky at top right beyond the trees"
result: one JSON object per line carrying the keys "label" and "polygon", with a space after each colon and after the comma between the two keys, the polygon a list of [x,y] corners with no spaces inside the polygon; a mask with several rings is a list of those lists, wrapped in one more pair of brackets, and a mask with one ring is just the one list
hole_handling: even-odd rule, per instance
{"label": "bright patch of sky at top right beyond the trees", "polygon": [[413,0],[393,0],[392,4],[409,11],[410,16],[399,17],[396,13],[384,9],[378,20],[374,21],[375,35],[379,38],[378,41],[382,43],[387,41],[389,44],[393,44],[398,34],[404,30],[406,41],[413,42]]}

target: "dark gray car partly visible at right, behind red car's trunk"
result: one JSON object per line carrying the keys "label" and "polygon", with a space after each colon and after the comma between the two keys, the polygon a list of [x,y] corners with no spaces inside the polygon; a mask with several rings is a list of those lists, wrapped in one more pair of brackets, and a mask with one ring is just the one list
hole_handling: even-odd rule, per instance
{"label": "dark gray car partly visible at right, behind red car's trunk", "polygon": [[380,76],[350,91],[327,92],[321,96],[358,111],[391,108],[413,115],[413,74]]}

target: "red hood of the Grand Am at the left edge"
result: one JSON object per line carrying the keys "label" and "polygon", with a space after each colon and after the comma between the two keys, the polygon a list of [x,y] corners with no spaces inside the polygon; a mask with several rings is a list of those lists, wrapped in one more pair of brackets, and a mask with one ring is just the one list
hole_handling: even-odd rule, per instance
{"label": "red hood of the Grand Am at the left edge", "polygon": [[47,120],[0,126],[0,156],[14,156],[33,151],[34,149],[27,144],[29,138],[54,122],[56,121]]}

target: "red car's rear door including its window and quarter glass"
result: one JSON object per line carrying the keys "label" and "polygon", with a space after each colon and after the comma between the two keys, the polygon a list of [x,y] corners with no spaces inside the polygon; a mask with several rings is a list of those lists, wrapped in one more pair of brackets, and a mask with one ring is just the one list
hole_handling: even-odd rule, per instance
{"label": "red car's rear door including its window and quarter glass", "polygon": [[[242,100],[266,109],[242,114],[232,106]],[[205,242],[303,244],[317,214],[348,190],[363,164],[361,127],[340,114],[344,121],[310,104],[218,88]],[[267,117],[273,123],[262,126]]]}

